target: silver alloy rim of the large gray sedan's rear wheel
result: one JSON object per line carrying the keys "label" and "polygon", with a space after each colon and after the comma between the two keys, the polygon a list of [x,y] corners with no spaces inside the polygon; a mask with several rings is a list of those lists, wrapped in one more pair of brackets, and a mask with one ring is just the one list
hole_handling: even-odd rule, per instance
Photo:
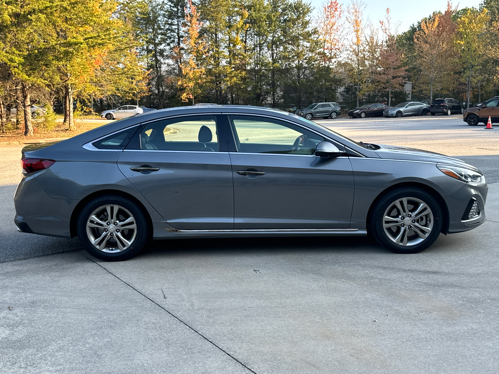
{"label": "silver alloy rim of the large gray sedan's rear wheel", "polygon": [[117,253],[126,250],[137,236],[137,222],[123,206],[99,206],[87,219],[87,238],[99,251]]}

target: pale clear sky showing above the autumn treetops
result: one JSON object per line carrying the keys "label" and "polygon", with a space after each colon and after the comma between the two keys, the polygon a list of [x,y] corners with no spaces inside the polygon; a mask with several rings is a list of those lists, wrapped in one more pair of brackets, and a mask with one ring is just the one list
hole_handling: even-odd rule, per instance
{"label": "pale clear sky showing above the autumn treetops", "polygon": [[[320,9],[321,4],[324,0],[308,0],[315,7],[315,12]],[[346,10],[346,6],[349,0],[341,1],[343,3],[343,9]],[[386,8],[390,8],[390,14],[392,15],[392,21],[395,24],[400,21],[400,26],[398,32],[403,32],[409,29],[413,23],[417,23],[423,17],[426,17],[433,13],[435,10],[444,11],[447,7],[447,0],[419,0],[419,1],[386,1],[386,0],[363,0],[367,5],[364,10],[364,19],[369,18],[375,26],[379,26],[379,20],[385,18]],[[459,5],[459,9],[465,7],[478,7],[481,0],[461,0],[459,3],[453,1],[453,5]]]}

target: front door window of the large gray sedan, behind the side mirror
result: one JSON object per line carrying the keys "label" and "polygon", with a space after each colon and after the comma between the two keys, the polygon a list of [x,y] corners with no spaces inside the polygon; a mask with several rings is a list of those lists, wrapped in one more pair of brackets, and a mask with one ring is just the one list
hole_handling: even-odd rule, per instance
{"label": "front door window of the large gray sedan, behind the side mirror", "polygon": [[264,117],[229,116],[238,152],[312,155],[324,138],[299,126]]}

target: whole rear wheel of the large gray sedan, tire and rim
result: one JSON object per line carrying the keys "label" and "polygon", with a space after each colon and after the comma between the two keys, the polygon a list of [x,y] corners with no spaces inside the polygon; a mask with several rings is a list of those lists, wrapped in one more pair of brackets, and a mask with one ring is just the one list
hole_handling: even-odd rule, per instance
{"label": "whole rear wheel of the large gray sedan, tire and rim", "polygon": [[92,256],[105,261],[121,261],[144,247],[150,238],[150,227],[145,214],[133,201],[105,195],[83,207],[77,233]]}

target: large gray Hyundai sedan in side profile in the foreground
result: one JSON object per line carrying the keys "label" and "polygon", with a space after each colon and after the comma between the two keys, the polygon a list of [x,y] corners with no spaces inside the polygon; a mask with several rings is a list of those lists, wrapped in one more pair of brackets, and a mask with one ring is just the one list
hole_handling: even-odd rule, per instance
{"label": "large gray Hyundai sedan in side profile in the foreground", "polygon": [[285,112],[204,105],[139,114],[22,150],[19,231],[78,236],[93,256],[152,239],[372,236],[415,253],[485,219],[475,167],[357,143]]}

